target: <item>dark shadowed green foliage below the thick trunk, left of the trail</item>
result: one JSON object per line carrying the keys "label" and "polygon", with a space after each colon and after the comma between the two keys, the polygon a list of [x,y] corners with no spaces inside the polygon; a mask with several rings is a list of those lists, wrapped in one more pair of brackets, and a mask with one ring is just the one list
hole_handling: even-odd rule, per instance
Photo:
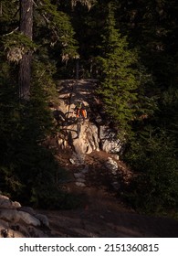
{"label": "dark shadowed green foliage below the thick trunk, left of the trail", "polygon": [[[7,81],[7,80],[6,80]],[[0,88],[0,190],[36,208],[72,208],[78,199],[64,192],[60,180],[67,173],[43,146],[53,132],[46,91],[36,84],[31,99],[20,102],[8,80]]]}

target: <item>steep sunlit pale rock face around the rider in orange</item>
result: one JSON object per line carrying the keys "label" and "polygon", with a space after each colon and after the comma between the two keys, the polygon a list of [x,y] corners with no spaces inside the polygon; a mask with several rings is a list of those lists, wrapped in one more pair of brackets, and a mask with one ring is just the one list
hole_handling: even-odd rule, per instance
{"label": "steep sunlit pale rock face around the rider in orange", "polygon": [[[58,144],[72,147],[76,154],[73,161],[80,164],[85,154],[93,151],[118,154],[121,150],[120,140],[110,124],[107,124],[106,113],[94,93],[96,88],[97,80],[61,81],[58,86],[58,105],[51,108],[61,131],[58,133]],[[76,116],[79,101],[83,102],[87,110],[86,119]]]}

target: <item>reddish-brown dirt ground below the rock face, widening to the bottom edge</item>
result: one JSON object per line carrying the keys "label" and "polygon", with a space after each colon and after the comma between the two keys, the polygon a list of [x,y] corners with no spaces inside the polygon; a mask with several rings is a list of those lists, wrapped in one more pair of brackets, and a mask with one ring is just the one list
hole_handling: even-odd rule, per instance
{"label": "reddish-brown dirt ground below the rock face, widening to the bottom edge", "polygon": [[[71,238],[175,238],[178,221],[141,215],[124,205],[120,197],[110,190],[108,176],[102,163],[110,155],[95,152],[87,156],[89,174],[86,187],[75,185],[73,173],[77,166],[69,163],[70,152],[60,151],[58,160],[68,170],[70,179],[64,184],[68,192],[79,197],[79,208],[43,210],[50,223],[51,237]],[[95,167],[94,167],[95,165]],[[124,167],[124,164],[120,162]],[[107,186],[108,183],[108,186]]]}

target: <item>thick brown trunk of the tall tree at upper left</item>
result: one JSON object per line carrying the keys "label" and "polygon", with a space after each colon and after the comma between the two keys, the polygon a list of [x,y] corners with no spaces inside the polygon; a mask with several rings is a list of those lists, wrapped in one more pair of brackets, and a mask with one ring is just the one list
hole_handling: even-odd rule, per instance
{"label": "thick brown trunk of the tall tree at upper left", "polygon": [[[20,31],[32,40],[33,0],[20,0]],[[20,61],[18,86],[19,98],[28,100],[30,96],[32,51],[23,55]]]}

